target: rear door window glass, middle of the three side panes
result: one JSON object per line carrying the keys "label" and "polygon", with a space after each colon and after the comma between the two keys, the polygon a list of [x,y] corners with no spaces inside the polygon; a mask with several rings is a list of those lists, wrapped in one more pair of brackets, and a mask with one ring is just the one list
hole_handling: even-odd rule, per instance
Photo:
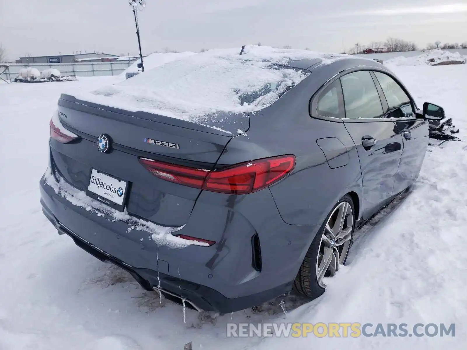
{"label": "rear door window glass, middle of the three side panes", "polygon": [[368,70],[349,73],[340,78],[346,118],[382,118],[383,110],[375,82]]}

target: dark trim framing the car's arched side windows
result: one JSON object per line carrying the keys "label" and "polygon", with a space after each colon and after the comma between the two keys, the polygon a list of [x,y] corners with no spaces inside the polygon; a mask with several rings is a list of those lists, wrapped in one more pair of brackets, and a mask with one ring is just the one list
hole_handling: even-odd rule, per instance
{"label": "dark trim framing the car's arched side windows", "polygon": [[[321,85],[321,87],[319,87],[319,89],[317,91],[314,92],[314,94],[310,98],[309,108],[308,108],[308,113],[309,113],[310,117],[313,118],[313,119],[321,119],[321,120],[331,121],[331,122],[334,122],[334,123],[377,123],[377,122],[393,121],[392,118],[336,119],[336,118],[321,116],[321,115],[318,114],[318,99],[321,96],[321,94],[323,93],[323,91],[327,88],[327,86],[329,84],[332,84],[337,79],[340,80],[341,77],[343,77],[343,76],[345,76],[345,75],[347,75],[349,73],[353,73],[353,72],[360,71],[360,70],[368,70],[370,72],[370,75],[371,75],[372,78],[374,76],[374,74],[372,72],[374,72],[374,71],[388,75],[389,77],[394,79],[394,81],[396,81],[396,83],[399,84],[399,86],[403,89],[403,91],[407,94],[407,96],[409,96],[410,101],[411,101],[412,105],[414,106],[415,110],[417,111],[419,109],[417,107],[417,104],[415,103],[415,100],[412,98],[412,95],[410,95],[409,91],[407,91],[407,89],[405,88],[403,83],[398,78],[396,78],[393,75],[393,73],[391,73],[388,70],[381,69],[381,68],[378,68],[378,67],[359,66],[359,67],[353,67],[353,68],[349,68],[347,70],[340,71],[338,74],[335,74],[332,78],[330,78],[325,84]],[[374,79],[376,79],[376,77]],[[378,82],[378,84],[375,83],[375,86],[376,86],[376,90],[378,90],[378,88],[381,89],[381,86],[379,85],[379,82]],[[379,92],[380,91],[378,90],[378,93]],[[340,94],[342,94],[342,100],[343,100],[344,98],[343,98],[342,85],[340,87]],[[382,107],[383,107],[383,110],[384,110],[384,105],[383,104],[387,104],[387,101],[386,101],[386,97],[384,96],[384,94],[383,94],[383,97],[384,97],[384,99],[382,100],[382,97],[380,96],[380,101],[381,101],[381,104],[382,104]],[[344,115],[345,115],[345,105],[344,105]]]}

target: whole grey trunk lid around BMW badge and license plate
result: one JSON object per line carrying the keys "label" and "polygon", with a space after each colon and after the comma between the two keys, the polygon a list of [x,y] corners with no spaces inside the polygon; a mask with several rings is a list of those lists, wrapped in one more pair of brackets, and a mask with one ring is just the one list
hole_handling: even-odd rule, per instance
{"label": "whole grey trunk lid around BMW badge and license plate", "polygon": [[[59,173],[86,191],[92,169],[128,182],[126,208],[130,215],[163,226],[182,226],[190,217],[200,189],[167,182],[152,175],[139,157],[211,170],[234,135],[221,129],[248,130],[247,113],[229,115],[216,125],[156,115],[127,112],[62,95],[61,123],[80,139],[68,144],[51,140],[51,154]],[[99,151],[99,135],[111,148]]]}

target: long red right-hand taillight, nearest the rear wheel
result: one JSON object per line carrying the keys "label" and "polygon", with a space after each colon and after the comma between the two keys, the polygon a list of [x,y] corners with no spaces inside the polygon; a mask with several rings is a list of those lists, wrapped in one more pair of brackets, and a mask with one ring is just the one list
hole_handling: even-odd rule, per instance
{"label": "long red right-hand taillight, nearest the rear wheel", "polygon": [[147,158],[140,158],[140,162],[163,180],[212,192],[243,195],[264,189],[289,174],[295,167],[295,156],[258,159],[212,171]]}

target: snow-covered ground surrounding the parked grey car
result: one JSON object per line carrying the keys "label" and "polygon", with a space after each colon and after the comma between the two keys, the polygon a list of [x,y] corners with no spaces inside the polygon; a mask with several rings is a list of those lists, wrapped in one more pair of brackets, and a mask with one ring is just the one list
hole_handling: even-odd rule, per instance
{"label": "snow-covered ground surrounding the parked grey car", "polygon": [[[467,64],[393,67],[417,103],[442,105],[467,140]],[[39,179],[60,92],[121,77],[0,85],[0,349],[464,349],[467,337],[467,143],[426,153],[412,193],[356,241],[326,293],[291,294],[212,320],[142,290],[74,245],[42,215]],[[226,338],[228,322],[455,323],[455,337]]]}

